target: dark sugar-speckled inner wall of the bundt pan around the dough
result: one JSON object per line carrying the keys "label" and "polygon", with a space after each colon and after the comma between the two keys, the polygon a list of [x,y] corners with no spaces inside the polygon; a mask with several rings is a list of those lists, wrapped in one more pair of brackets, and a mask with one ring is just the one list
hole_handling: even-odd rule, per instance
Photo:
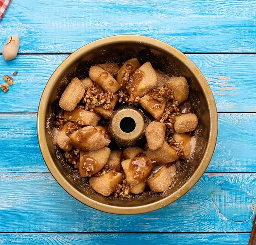
{"label": "dark sugar-speckled inner wall of the bundt pan around the dough", "polygon": [[[189,101],[193,105],[195,113],[198,116],[198,129],[195,132],[196,145],[194,154],[186,161],[182,162],[176,174],[172,186],[162,194],[146,192],[133,198],[106,198],[95,191],[88,185],[87,180],[82,178],[78,171],[70,167],[62,153],[57,149],[54,143],[54,119],[56,114],[56,105],[61,93],[64,91],[67,84],[74,77],[85,78],[88,77],[88,70],[91,65],[105,62],[125,62],[131,58],[138,58],[141,63],[147,61],[151,62],[153,68],[165,72],[169,76],[184,76],[186,77],[189,87],[190,95]],[[80,59],[75,60],[70,66],[63,71],[61,77],[55,83],[54,89],[49,95],[49,100],[46,102],[46,138],[47,145],[50,150],[51,157],[61,171],[66,180],[83,195],[92,198],[100,203],[109,204],[119,207],[135,207],[149,203],[154,203],[168,195],[172,194],[180,188],[197,169],[200,164],[207,142],[209,140],[210,131],[210,115],[207,100],[203,89],[195,75],[184,65],[180,59],[166,52],[155,48],[153,45],[144,45],[138,42],[120,42],[108,44],[103,47],[94,48],[85,53]]]}

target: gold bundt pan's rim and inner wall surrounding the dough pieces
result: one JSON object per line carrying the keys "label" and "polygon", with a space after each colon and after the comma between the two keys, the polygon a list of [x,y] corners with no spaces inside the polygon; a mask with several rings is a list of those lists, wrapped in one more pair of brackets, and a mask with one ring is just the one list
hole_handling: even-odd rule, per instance
{"label": "gold bundt pan's rim and inner wall surrounding the dough pieces", "polygon": [[[190,103],[198,116],[197,144],[190,161],[179,168],[174,185],[157,194],[146,192],[133,198],[104,197],[96,193],[77,170],[64,163],[53,143],[54,119],[59,95],[74,77],[88,77],[91,65],[124,62],[137,57],[141,63],[151,62],[169,76],[186,77],[190,87]],[[218,119],[210,87],[200,70],[183,53],[162,41],[137,35],[102,38],[76,50],[53,72],[41,96],[37,134],[41,153],[55,180],[70,195],[95,209],[116,214],[137,214],[160,209],[182,197],[203,175],[216,144]]]}

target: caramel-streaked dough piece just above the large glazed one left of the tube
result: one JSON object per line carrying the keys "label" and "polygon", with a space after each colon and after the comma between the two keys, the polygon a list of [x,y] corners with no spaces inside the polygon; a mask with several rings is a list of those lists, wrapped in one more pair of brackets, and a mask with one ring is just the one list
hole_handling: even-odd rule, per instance
{"label": "caramel-streaked dough piece just above the large glazed one left of the tube", "polygon": [[96,126],[101,117],[94,112],[80,108],[73,111],[65,111],[64,118],[71,122],[78,122],[83,126]]}

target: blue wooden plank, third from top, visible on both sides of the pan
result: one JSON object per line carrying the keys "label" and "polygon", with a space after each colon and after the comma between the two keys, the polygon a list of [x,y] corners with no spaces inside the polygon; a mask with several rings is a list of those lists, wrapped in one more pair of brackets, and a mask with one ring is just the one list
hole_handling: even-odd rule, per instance
{"label": "blue wooden plank, third from top, visible on both sides of the pan", "polygon": [[[208,172],[255,172],[256,113],[219,114]],[[37,142],[36,114],[0,114],[0,172],[49,172]],[[15,156],[15,161],[14,161]]]}

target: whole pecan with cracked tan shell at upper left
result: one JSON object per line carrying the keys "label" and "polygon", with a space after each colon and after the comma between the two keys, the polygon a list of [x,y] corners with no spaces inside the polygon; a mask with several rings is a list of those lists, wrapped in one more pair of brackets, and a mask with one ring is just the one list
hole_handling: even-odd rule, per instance
{"label": "whole pecan with cracked tan shell at upper left", "polygon": [[18,33],[13,36],[10,36],[5,45],[3,46],[3,57],[5,60],[12,60],[17,56],[18,50],[20,46],[20,39]]}

